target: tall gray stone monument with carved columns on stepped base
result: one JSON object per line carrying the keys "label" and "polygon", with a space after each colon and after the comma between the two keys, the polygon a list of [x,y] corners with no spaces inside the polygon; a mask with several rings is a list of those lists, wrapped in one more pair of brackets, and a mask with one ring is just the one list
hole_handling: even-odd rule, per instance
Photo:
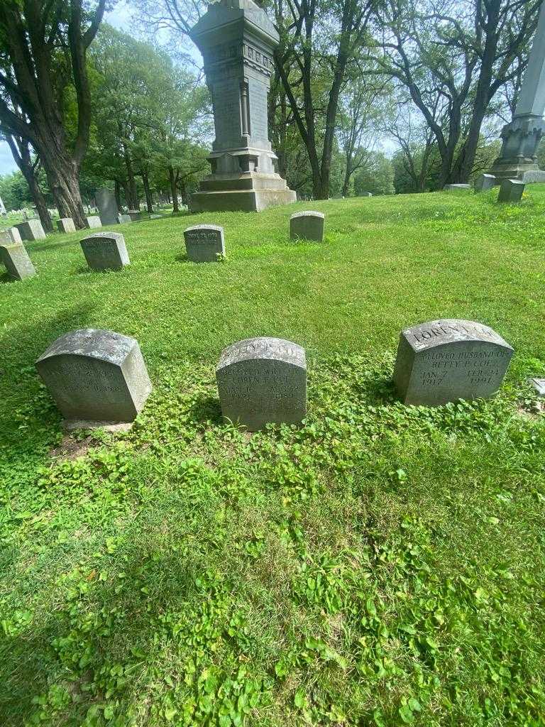
{"label": "tall gray stone monument with carved columns on stepped base", "polygon": [[296,201],[269,141],[267,92],[279,41],[273,23],[252,0],[220,0],[191,38],[203,55],[216,129],[212,173],[191,195],[191,211],[259,212]]}

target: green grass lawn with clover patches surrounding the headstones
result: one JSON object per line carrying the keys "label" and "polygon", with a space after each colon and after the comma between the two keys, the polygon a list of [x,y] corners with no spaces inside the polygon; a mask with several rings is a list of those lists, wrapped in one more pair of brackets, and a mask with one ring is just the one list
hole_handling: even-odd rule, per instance
{"label": "green grass lawn with clover patches surrounding the headstones", "polygon": [[[545,186],[302,203],[121,225],[0,273],[0,724],[545,724]],[[288,217],[326,214],[323,244]],[[225,228],[227,260],[182,230]],[[515,348],[501,393],[392,389],[400,329],[469,318]],[[137,338],[130,433],[62,443],[33,361],[84,327]],[[222,423],[219,353],[303,345],[304,427]]]}

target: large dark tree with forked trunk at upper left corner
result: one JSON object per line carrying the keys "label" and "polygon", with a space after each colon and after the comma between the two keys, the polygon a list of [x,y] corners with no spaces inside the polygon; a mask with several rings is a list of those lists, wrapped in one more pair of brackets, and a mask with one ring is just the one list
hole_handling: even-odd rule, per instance
{"label": "large dark tree with forked trunk at upper left corner", "polygon": [[[86,53],[106,0],[2,0],[0,120],[31,143],[62,217],[85,226],[78,172],[89,143],[91,94]],[[73,89],[76,129],[65,123]],[[17,110],[20,110],[18,113]]]}

